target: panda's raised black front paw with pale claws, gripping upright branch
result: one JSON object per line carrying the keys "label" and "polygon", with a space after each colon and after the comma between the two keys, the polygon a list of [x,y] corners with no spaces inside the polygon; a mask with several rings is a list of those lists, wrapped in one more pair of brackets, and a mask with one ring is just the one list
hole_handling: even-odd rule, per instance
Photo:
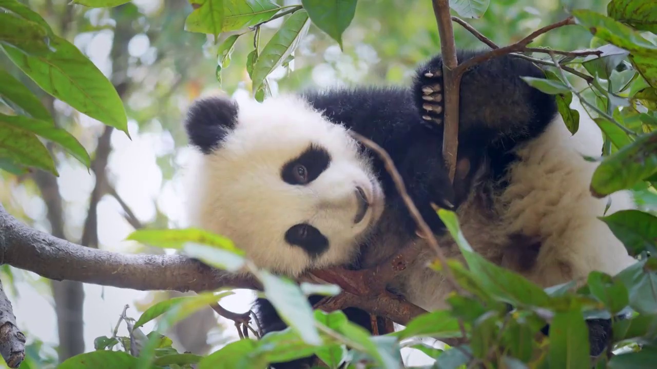
{"label": "panda's raised black front paw with pale claws, gripping upright branch", "polygon": [[443,123],[443,63],[440,56],[417,71],[413,95],[422,120],[432,128]]}

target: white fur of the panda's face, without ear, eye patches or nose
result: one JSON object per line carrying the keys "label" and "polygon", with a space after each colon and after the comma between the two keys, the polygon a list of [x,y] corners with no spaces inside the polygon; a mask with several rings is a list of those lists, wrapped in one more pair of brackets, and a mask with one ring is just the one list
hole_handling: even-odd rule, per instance
{"label": "white fur of the panda's face, without ear, eye patches or nose", "polygon": [[[240,102],[237,122],[219,148],[209,155],[198,153],[191,168],[193,226],[230,238],[259,267],[292,276],[349,261],[380,216],[384,200],[355,140],[342,125],[294,96]],[[330,165],[305,186],[285,183],[284,163],[311,143],[329,152]],[[365,190],[372,206],[354,225],[355,186]],[[328,251],[314,261],[284,240],[288,228],[305,221],[329,242]]]}

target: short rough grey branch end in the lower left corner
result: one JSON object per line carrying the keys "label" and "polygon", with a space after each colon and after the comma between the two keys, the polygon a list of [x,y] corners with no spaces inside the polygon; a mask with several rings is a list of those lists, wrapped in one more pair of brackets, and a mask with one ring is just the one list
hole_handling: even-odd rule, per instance
{"label": "short rough grey branch end in the lower left corner", "polygon": [[[0,234],[0,240],[2,235]],[[9,368],[18,368],[25,358],[25,335],[16,325],[11,302],[0,282],[0,355]]]}

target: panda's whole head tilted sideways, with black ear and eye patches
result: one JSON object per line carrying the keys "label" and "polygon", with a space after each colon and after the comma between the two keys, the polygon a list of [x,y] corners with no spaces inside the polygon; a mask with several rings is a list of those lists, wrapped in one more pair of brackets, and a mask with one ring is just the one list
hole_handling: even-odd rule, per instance
{"label": "panda's whole head tilted sideways, with black ear and eye patches", "polygon": [[259,267],[296,276],[348,263],[382,213],[371,160],[342,126],[296,96],[194,102],[194,227],[230,238]]}

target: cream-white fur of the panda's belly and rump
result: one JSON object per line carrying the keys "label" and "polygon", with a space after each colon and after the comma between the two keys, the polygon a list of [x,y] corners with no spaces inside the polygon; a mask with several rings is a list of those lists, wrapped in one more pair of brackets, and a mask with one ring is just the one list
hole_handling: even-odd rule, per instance
{"label": "cream-white fur of the panda's belly and rump", "polygon": [[[557,115],[543,135],[517,151],[522,161],[513,165],[510,185],[493,213],[482,211],[473,198],[458,211],[461,229],[472,248],[495,263],[503,265],[509,257],[510,234],[541,241],[535,267],[529,271],[522,271],[519,265],[505,267],[543,288],[569,280],[581,285],[591,271],[613,276],[636,262],[597,218],[605,215],[608,198],[591,196],[589,184],[599,162],[587,162],[582,155],[599,157],[602,135],[581,106],[574,108],[580,116],[576,135],[571,135]],[[634,207],[627,191],[610,197],[606,215]],[[453,240],[444,238],[440,246],[447,257],[463,260]],[[451,291],[441,274],[422,269],[420,263],[432,259],[431,253],[420,255],[399,286],[409,301],[429,311],[446,308],[445,297]]]}

